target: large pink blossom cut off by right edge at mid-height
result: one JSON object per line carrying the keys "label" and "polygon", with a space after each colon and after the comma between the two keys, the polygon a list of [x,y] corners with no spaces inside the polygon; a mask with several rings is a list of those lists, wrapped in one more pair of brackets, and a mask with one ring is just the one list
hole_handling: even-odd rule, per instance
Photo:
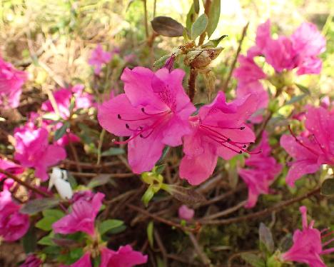
{"label": "large pink blossom cut off by right edge at mid-height", "polygon": [[315,173],[322,164],[334,165],[334,114],[323,107],[309,107],[305,116],[308,135],[280,138],[280,146],[295,158],[286,176],[289,186],[294,186],[301,176]]}

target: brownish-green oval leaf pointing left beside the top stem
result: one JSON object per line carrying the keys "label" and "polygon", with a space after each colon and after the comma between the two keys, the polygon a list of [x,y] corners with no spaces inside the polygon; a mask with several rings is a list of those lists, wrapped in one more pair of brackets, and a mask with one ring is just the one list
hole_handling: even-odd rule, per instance
{"label": "brownish-green oval leaf pointing left beside the top stem", "polygon": [[183,26],[169,16],[156,16],[151,25],[157,34],[168,37],[183,36]]}

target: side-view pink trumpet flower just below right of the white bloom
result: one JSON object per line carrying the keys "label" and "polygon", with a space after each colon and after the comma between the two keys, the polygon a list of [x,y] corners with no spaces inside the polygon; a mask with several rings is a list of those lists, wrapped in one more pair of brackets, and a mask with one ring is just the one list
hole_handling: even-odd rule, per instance
{"label": "side-view pink trumpet flower just below right of the white bloom", "polygon": [[90,236],[94,236],[94,222],[98,211],[102,206],[103,193],[96,193],[91,201],[79,199],[72,205],[69,215],[64,216],[52,225],[55,233],[76,233],[78,231],[85,232]]}

